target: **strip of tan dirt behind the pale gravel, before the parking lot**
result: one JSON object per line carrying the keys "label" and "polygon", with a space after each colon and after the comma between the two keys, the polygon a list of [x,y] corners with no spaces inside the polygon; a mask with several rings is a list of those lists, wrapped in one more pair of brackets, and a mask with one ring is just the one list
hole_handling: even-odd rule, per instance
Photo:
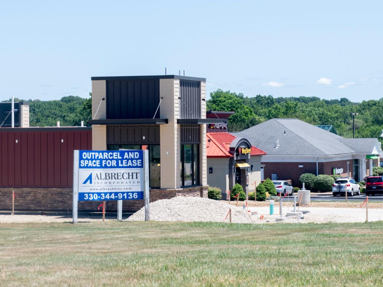
{"label": "strip of tan dirt behind the pale gravel, before the parking lot", "polygon": [[[222,200],[222,202],[226,202],[227,204],[229,204],[229,202],[226,200]],[[230,204],[236,205],[237,202],[231,201]],[[239,201],[238,202],[238,206],[242,206],[244,204],[245,204],[245,201]],[[274,204],[275,204],[275,206],[279,206],[279,202],[277,202],[277,201]],[[362,205],[362,202],[347,202],[347,203],[346,202],[311,202],[310,203],[310,207],[359,208],[360,205]],[[249,207],[265,207],[265,206],[269,206],[269,202],[268,201],[257,201],[257,202],[248,201],[247,206],[249,206]],[[293,206],[293,202],[283,201],[282,206],[283,207]],[[364,206],[365,205],[363,205],[363,207]],[[368,207],[369,208],[377,208],[377,209],[382,208],[383,209],[383,202],[371,202],[370,201],[370,202],[368,202]]]}

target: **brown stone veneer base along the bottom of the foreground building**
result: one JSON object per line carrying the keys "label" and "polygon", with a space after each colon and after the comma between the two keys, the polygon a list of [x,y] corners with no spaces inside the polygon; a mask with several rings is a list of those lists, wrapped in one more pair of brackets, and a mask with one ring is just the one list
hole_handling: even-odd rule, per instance
{"label": "brown stone veneer base along the bottom of the foreground building", "polygon": [[[15,210],[71,211],[71,188],[0,188],[2,210],[12,209],[12,190],[15,191]],[[208,186],[193,186],[180,189],[151,189],[150,201],[170,199],[175,196],[208,197]],[[102,201],[79,201],[79,211],[98,211]],[[123,211],[137,211],[144,206],[143,200],[123,201]],[[105,210],[115,212],[117,201],[106,201]]]}

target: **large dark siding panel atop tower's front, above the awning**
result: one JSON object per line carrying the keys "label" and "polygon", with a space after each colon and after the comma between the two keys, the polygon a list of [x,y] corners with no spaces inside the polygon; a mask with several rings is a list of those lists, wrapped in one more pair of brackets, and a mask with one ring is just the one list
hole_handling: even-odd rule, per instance
{"label": "large dark siding panel atop tower's front, above the awning", "polygon": [[106,81],[106,118],[153,118],[160,101],[159,86],[159,80]]}

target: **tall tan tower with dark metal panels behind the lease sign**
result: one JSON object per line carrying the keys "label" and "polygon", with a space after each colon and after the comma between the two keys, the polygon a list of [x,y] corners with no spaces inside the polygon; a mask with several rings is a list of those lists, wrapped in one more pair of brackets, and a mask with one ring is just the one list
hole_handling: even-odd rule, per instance
{"label": "tall tan tower with dark metal panels behind the lease sign", "polygon": [[205,98],[205,78],[92,77],[93,150],[149,150],[151,201],[206,197]]}

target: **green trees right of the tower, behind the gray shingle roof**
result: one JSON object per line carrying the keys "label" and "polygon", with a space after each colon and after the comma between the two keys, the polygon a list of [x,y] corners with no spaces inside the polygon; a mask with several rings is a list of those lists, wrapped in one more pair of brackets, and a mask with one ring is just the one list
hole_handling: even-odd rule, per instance
{"label": "green trees right of the tower, behind the gray shingle roof", "polygon": [[218,89],[210,93],[207,109],[234,111],[229,131],[244,130],[272,118],[297,118],[313,125],[332,125],[342,137],[352,137],[351,113],[355,116],[355,137],[378,137],[383,129],[383,98],[353,103],[347,98],[245,97],[242,93]]}

